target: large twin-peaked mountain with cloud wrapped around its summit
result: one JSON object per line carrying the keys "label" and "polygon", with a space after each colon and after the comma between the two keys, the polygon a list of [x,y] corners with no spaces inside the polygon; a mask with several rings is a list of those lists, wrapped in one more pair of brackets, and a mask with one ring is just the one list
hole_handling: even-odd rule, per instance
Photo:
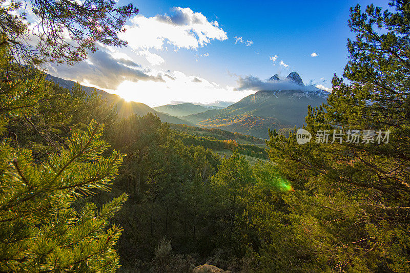
{"label": "large twin-peaked mountain with cloud wrapped around its summit", "polygon": [[314,86],[303,85],[296,72],[283,80],[275,75],[269,81],[273,82],[273,88],[278,82],[286,89],[261,90],[222,110],[209,110],[181,118],[205,128],[268,138],[268,128],[301,126],[308,114],[308,105],[317,107],[325,103],[329,94]]}

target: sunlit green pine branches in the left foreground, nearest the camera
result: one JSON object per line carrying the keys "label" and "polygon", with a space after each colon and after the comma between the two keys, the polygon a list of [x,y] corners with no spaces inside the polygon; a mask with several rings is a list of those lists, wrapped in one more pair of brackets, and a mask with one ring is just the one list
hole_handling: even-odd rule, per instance
{"label": "sunlit green pine branches in the left foreground, nearest the camera", "polygon": [[[36,110],[45,94],[44,76],[11,62],[7,43],[0,43],[0,271],[115,271],[114,249],[121,234],[109,220],[127,195],[98,211],[92,203],[79,210],[75,201],[108,191],[123,156],[109,148],[103,125],[92,121],[75,131],[66,148],[43,161],[31,151],[13,148],[6,135],[10,118]],[[25,72],[25,73],[23,73]],[[27,73],[30,75],[28,76]]]}

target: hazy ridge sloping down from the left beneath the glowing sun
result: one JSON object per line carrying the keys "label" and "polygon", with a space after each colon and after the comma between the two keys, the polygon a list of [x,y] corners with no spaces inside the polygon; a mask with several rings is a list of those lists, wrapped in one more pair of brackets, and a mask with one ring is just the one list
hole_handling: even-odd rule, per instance
{"label": "hazy ridge sloping down from the left beneath the glowing sun", "polygon": [[[71,88],[74,86],[75,81],[72,80],[66,80],[66,79],[61,79],[58,77],[54,77],[50,74],[46,73],[46,79],[50,81],[54,81],[55,83],[58,83],[61,87],[67,88],[68,90],[71,90]],[[174,116],[170,116],[165,113],[157,112],[151,107],[149,107],[147,104],[141,103],[141,102],[135,102],[135,101],[126,101],[125,99],[121,98],[118,95],[115,94],[110,94],[104,90],[96,89],[93,87],[88,87],[88,86],[81,86],[83,87],[83,90],[87,94],[91,94],[92,92],[96,92],[101,96],[101,98],[106,99],[108,103],[113,104],[114,107],[117,108],[118,111],[118,116],[119,117],[128,117],[131,114],[136,114],[139,116],[144,116],[148,114],[149,112],[153,114],[157,114],[157,116],[161,119],[162,122],[168,122],[168,123],[174,123],[174,124],[187,124],[187,125],[194,125],[194,123],[187,121],[187,120],[182,120]],[[205,109],[207,110],[207,109]]]}

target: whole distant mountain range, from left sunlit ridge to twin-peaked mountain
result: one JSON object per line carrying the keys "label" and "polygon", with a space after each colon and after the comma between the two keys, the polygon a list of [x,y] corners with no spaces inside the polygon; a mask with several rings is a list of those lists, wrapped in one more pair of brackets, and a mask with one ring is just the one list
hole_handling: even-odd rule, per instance
{"label": "whole distant mountain range, from left sunlit ridge to twin-peaked mountain", "polygon": [[[47,79],[69,90],[75,83],[48,74]],[[268,138],[268,128],[273,130],[301,126],[308,114],[308,105],[317,107],[325,103],[329,95],[329,92],[314,86],[305,86],[296,72],[290,73],[285,79],[278,75],[272,76],[260,91],[226,108],[193,103],[150,108],[144,103],[127,102],[118,95],[103,90],[86,86],[83,89],[87,93],[96,91],[109,103],[114,103],[119,116],[131,113],[146,115],[152,112],[162,122],[217,128],[259,138]]]}

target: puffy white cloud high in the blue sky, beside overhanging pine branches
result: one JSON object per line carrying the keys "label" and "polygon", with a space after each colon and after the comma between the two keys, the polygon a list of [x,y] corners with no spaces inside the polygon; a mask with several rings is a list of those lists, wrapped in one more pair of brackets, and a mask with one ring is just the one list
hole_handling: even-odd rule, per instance
{"label": "puffy white cloud high in the blue sky, beside overhanging pine branches", "polygon": [[164,45],[173,45],[176,49],[198,49],[206,46],[211,40],[226,40],[227,33],[219,27],[218,22],[210,22],[200,12],[190,8],[173,8],[172,15],[155,15],[145,17],[137,15],[131,19],[127,32],[120,34],[122,39],[134,50],[157,49]]}

